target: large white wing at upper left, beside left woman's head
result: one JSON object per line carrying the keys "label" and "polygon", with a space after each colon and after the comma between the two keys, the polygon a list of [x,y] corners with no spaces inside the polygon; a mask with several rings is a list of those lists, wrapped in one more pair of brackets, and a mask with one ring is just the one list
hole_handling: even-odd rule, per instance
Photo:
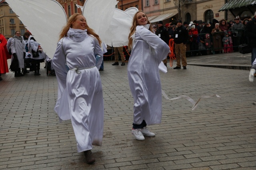
{"label": "large white wing at upper left, beside left woman's head", "polygon": [[[26,28],[52,58],[67,16],[56,0],[6,0]],[[17,30],[19,31],[19,30]]]}

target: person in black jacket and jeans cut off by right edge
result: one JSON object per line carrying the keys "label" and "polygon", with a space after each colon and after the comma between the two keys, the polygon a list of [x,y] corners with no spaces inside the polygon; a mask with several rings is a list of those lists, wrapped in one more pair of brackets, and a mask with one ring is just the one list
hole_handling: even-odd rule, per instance
{"label": "person in black jacket and jeans cut off by right edge", "polygon": [[[248,45],[252,47],[252,63],[256,59],[256,12],[254,18],[245,26],[244,33],[248,38]],[[256,63],[255,63],[256,64]]]}

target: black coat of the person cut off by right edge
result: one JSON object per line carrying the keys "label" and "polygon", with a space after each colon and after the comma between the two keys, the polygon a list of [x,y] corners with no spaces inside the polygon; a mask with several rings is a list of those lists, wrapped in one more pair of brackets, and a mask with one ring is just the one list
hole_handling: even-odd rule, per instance
{"label": "black coat of the person cut off by right edge", "polygon": [[245,26],[244,33],[248,38],[248,44],[256,48],[256,18],[254,17],[251,21]]}

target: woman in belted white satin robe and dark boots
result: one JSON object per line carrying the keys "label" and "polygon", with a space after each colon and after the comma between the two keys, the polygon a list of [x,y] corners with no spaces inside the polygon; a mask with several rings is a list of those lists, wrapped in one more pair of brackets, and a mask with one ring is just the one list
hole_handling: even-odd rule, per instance
{"label": "woman in belted white satin robe and dark boots", "polygon": [[84,152],[88,164],[95,162],[92,145],[101,146],[103,137],[100,44],[99,36],[87,25],[84,16],[76,13],[62,29],[52,59],[58,80],[55,111],[60,122],[71,119],[77,150]]}

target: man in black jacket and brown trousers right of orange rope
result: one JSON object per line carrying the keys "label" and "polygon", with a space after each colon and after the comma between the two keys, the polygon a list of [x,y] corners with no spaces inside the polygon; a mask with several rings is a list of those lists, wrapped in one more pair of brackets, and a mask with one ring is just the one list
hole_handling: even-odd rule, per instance
{"label": "man in black jacket and brown trousers right of orange rope", "polygon": [[180,59],[182,60],[183,69],[187,69],[187,59],[186,59],[186,43],[188,41],[188,29],[182,25],[182,21],[177,21],[178,27],[174,30],[174,45],[176,53],[177,66],[173,69],[180,69]]}

